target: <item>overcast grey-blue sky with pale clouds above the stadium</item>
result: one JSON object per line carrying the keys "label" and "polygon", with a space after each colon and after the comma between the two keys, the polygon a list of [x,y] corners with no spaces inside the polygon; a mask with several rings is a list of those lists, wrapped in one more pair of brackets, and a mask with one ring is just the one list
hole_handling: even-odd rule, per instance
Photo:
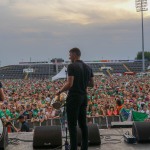
{"label": "overcast grey-blue sky with pale clouds above the stadium", "polygon": [[[144,50],[150,51],[150,0],[144,12]],[[24,61],[135,59],[142,50],[135,0],[0,0],[0,65]]]}

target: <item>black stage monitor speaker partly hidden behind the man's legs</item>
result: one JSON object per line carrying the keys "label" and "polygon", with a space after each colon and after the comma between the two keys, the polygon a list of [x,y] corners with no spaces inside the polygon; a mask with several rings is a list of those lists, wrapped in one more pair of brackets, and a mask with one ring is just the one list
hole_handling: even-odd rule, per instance
{"label": "black stage monitor speaker partly hidden behind the man's legs", "polygon": [[[81,145],[81,130],[77,128],[78,145]],[[89,146],[97,146],[101,144],[100,132],[97,124],[88,125]]]}

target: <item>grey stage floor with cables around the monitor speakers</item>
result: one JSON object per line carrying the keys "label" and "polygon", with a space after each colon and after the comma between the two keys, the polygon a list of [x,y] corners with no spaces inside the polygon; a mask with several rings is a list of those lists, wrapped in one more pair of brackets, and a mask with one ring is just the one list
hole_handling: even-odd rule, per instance
{"label": "grey stage floor with cables around the monitor speakers", "polygon": [[[100,129],[101,145],[96,147],[89,146],[89,150],[149,150],[150,143],[144,144],[128,144],[124,141],[124,133],[131,134],[131,128],[113,128],[113,129]],[[19,138],[24,140],[33,140],[33,132],[30,133],[10,133],[9,138]],[[65,139],[62,139],[63,144]],[[65,148],[63,147],[62,150]],[[6,150],[33,150],[32,142],[20,141],[18,145],[9,144]],[[42,149],[44,150],[44,149]]]}

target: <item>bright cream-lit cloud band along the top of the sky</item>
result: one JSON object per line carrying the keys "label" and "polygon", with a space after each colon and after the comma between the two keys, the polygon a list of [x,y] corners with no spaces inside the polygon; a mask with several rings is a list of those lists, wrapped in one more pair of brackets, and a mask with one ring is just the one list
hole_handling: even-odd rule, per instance
{"label": "bright cream-lit cloud band along the top of the sky", "polygon": [[108,24],[137,17],[133,0],[9,0],[8,4],[17,16],[49,22]]}

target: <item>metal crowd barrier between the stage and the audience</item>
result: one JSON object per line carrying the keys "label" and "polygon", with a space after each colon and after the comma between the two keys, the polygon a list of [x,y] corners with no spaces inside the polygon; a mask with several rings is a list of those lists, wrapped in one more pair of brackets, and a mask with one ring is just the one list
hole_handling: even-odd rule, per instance
{"label": "metal crowd barrier between the stage and the audience", "polygon": [[[62,125],[60,118],[52,118],[44,120],[43,122],[31,122],[31,119],[26,120],[29,124],[30,129],[34,129],[36,126],[52,126],[52,125]],[[120,122],[120,116],[100,116],[100,117],[88,117],[87,122],[98,124],[99,128],[105,129],[111,126],[111,122]],[[21,127],[21,123],[13,120],[13,125],[17,128]]]}

